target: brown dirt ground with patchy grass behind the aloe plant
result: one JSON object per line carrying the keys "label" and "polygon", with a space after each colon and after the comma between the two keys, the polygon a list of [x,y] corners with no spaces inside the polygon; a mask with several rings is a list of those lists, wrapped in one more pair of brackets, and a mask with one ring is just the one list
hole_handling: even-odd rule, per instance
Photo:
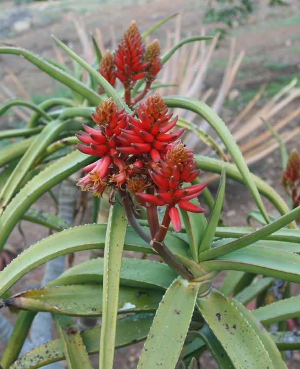
{"label": "brown dirt ground with patchy grass behind the aloe plant", "polygon": [[[258,5],[248,22],[234,28],[230,37],[236,37],[237,52],[245,50],[246,57],[240,67],[238,75],[232,86],[239,95],[233,101],[227,101],[222,109],[221,116],[231,121],[249,101],[249,96],[258,91],[264,82],[275,82],[283,87],[293,77],[300,76],[300,3],[299,0],[290,1],[289,7],[270,8],[267,1],[258,1]],[[16,7],[15,1],[0,2],[0,39],[17,46],[22,46],[44,57],[56,57],[54,42],[51,34],[55,34],[63,42],[72,45],[78,52],[81,46],[74,27],[74,17],[79,17],[92,32],[95,27],[100,28],[105,36],[104,46],[111,47],[112,38],[120,39],[122,32],[132,19],[138,21],[141,31],[150,28],[162,17],[180,11],[182,14],[181,37],[199,34],[202,26],[202,17],[206,8],[206,1],[167,0],[160,1],[38,1],[23,3]],[[112,27],[113,26],[113,27]],[[154,34],[162,44],[166,42],[167,28],[174,30],[172,21],[164,25],[159,33]],[[214,27],[214,26],[213,26]],[[207,30],[209,33],[212,26]],[[113,37],[112,37],[113,35]],[[217,88],[220,85],[227,62],[230,37],[223,41],[213,55],[210,72],[206,80],[207,87]],[[22,81],[23,87],[36,102],[45,97],[59,94],[65,96],[68,92],[54,83],[50,77],[40,72],[35,66],[24,59],[15,56],[0,55],[0,83],[9,87],[10,91],[18,94],[18,89],[12,83],[8,70],[11,70]],[[0,96],[1,97],[1,96]],[[270,95],[265,96],[267,99]],[[299,106],[296,100],[290,109]],[[258,104],[257,108],[260,107]],[[285,112],[282,115],[286,114]],[[0,122],[1,128],[16,125],[16,117],[8,115]],[[300,124],[299,118],[290,123],[292,129]],[[299,149],[299,136],[293,138],[287,145]],[[251,166],[251,171],[260,175],[269,184],[286,198],[280,186],[281,166],[280,153],[277,150],[270,156]],[[210,189],[215,193],[216,185],[211,184]],[[57,192],[57,188],[54,189]],[[264,199],[267,210],[276,215],[272,205]],[[49,195],[44,195],[35,205],[47,212],[54,212],[55,208]],[[234,181],[227,181],[226,201],[223,210],[223,219],[227,225],[245,225],[246,215],[255,206],[247,189]],[[87,219],[89,220],[89,210]],[[48,231],[38,225],[22,222],[22,229],[26,234],[26,246],[46,237]],[[23,238],[16,229],[8,240],[14,247],[23,247]],[[78,253],[75,263],[87,258],[87,253]],[[14,286],[14,291],[36,287],[43,275],[43,267],[37,268],[23,277]],[[299,293],[298,286],[294,287]],[[7,311],[3,312],[8,316]],[[9,317],[11,319],[11,316]],[[123,348],[116,353],[116,369],[136,368],[137,358],[142,345]],[[96,368],[96,357],[93,359]],[[299,368],[300,353],[295,351],[289,360],[290,369]],[[217,368],[209,354],[201,359],[203,368]]]}

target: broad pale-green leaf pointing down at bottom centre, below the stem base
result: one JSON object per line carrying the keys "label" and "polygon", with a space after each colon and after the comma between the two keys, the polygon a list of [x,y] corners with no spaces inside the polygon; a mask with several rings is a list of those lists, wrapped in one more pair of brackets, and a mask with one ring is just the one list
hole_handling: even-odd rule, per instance
{"label": "broad pale-green leaf pointing down at bottom centre, below the stem base", "polygon": [[178,277],[167,289],[145,342],[137,369],[174,369],[187,334],[199,287]]}

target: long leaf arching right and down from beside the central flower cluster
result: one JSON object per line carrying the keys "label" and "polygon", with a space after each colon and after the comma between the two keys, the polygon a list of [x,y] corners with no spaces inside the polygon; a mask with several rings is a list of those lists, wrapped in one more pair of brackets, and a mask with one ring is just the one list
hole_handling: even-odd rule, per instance
{"label": "long leaf arching right and down from beside the central flower cluster", "polygon": [[219,118],[218,115],[204,102],[182,96],[167,96],[164,99],[167,106],[171,108],[183,108],[193,111],[194,113],[204,118],[212,126],[212,128],[216,131],[217,135],[226,146],[228,152],[231,154],[233,161],[236,163],[240,174],[247,184],[258,209],[260,210],[266,221],[269,222],[265,206],[262,202],[259,191],[253,181],[249,168],[244,161],[240,148],[221,118]]}

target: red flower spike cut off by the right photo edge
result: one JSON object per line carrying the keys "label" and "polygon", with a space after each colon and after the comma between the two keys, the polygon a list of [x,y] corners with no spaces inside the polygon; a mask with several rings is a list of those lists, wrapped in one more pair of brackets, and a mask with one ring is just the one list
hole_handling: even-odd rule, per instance
{"label": "red flower spike cut off by the right photo edge", "polygon": [[293,207],[300,203],[300,154],[296,149],[291,151],[281,183],[293,200]]}

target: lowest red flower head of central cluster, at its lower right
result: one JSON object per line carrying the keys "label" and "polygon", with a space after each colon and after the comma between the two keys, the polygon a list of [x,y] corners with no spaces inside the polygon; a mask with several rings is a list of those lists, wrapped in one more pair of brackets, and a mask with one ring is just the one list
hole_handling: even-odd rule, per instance
{"label": "lowest red flower head of central cluster, at its lower right", "polygon": [[181,228],[180,216],[176,205],[186,211],[203,213],[205,209],[200,205],[190,203],[189,200],[199,196],[207,183],[193,184],[181,188],[190,178],[195,179],[199,172],[195,170],[196,162],[192,151],[183,144],[169,150],[163,160],[152,164],[149,170],[150,178],[157,186],[157,194],[137,192],[136,197],[144,203],[156,206],[167,205],[173,228],[179,232]]}

